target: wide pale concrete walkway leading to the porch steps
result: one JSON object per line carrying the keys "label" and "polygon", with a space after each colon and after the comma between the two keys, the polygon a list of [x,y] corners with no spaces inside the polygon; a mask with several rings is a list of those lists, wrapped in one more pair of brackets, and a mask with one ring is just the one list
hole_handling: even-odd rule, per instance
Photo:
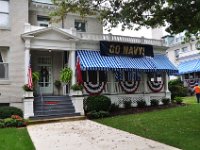
{"label": "wide pale concrete walkway leading to the porch steps", "polygon": [[28,126],[36,150],[178,150],[90,120]]}

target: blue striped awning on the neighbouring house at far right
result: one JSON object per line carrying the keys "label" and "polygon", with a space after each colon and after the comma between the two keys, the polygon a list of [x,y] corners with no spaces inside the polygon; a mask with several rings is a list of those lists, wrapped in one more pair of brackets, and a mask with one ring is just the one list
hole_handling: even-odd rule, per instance
{"label": "blue striped awning on the neighbouring house at far right", "polygon": [[181,62],[178,65],[179,74],[187,74],[192,72],[200,72],[200,59]]}

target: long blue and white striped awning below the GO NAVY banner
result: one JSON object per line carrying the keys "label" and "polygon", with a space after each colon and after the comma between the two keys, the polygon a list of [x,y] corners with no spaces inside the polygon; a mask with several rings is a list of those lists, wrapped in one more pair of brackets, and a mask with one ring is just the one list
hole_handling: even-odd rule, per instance
{"label": "long blue and white striped awning below the GO NAVY banner", "polygon": [[165,71],[177,73],[176,67],[165,55],[132,58],[125,56],[102,56],[99,51],[78,50],[82,70],[132,70],[143,72]]}

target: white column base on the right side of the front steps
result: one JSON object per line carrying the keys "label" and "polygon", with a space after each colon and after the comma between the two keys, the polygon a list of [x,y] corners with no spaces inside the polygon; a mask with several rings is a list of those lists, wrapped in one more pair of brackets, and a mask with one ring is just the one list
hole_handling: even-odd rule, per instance
{"label": "white column base on the right side of the front steps", "polygon": [[76,113],[81,113],[81,115],[85,115],[84,109],[83,109],[83,97],[71,97],[72,103],[75,108]]}

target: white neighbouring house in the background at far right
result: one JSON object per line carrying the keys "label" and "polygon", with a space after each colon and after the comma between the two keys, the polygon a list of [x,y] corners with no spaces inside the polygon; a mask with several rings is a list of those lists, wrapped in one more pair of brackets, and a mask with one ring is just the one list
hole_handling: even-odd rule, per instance
{"label": "white neighbouring house in the background at far right", "polygon": [[177,66],[184,85],[193,88],[195,83],[199,83],[200,78],[200,45],[195,38],[190,42],[185,42],[184,37],[183,32],[175,36],[165,36],[163,39],[169,47],[167,56]]}

